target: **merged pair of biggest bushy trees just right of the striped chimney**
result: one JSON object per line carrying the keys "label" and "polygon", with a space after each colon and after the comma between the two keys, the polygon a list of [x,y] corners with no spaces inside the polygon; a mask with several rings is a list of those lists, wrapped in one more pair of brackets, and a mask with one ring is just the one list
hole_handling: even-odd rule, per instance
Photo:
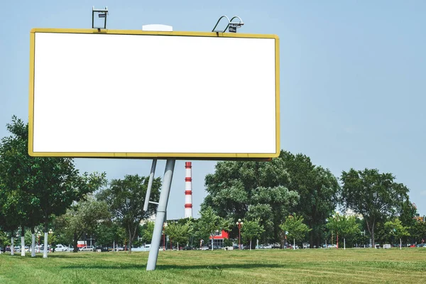
{"label": "merged pair of biggest bushy trees just right of the striped chimney", "polygon": [[305,155],[281,151],[266,162],[219,162],[205,179],[210,206],[221,217],[260,219],[264,242],[282,238],[279,224],[291,212],[305,218],[311,243],[320,244],[323,225],[337,204],[339,183],[329,170]]}

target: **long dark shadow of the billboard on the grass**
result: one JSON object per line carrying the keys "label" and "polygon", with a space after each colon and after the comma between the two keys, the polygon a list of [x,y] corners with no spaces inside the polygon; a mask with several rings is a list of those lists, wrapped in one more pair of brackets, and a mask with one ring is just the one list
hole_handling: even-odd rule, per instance
{"label": "long dark shadow of the billboard on the grass", "polygon": [[[158,265],[157,270],[170,270],[170,269],[181,269],[181,270],[187,270],[187,269],[212,269],[212,270],[222,270],[222,269],[229,269],[229,268],[239,268],[239,269],[253,269],[253,268],[284,268],[284,265],[278,265],[274,263],[265,264],[265,263],[232,263],[232,264],[210,264],[210,265],[197,265],[197,266],[171,266],[171,265]],[[63,269],[143,269],[146,270],[146,264],[111,264],[109,266],[107,265],[99,265],[94,264],[90,265],[85,264],[83,265],[70,265],[70,266],[61,266]]]}

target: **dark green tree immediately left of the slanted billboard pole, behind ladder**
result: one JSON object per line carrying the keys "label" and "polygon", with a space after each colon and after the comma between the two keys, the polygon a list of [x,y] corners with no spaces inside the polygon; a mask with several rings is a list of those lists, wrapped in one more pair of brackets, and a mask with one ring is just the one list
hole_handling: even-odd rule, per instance
{"label": "dark green tree immediately left of the slanted billboard pole, behind ladder", "polygon": [[[97,195],[99,200],[107,202],[113,218],[126,229],[129,253],[131,253],[131,242],[136,236],[139,224],[154,213],[153,207],[144,212],[141,205],[145,200],[148,180],[148,177],[126,175],[123,180],[111,180],[109,188]],[[160,178],[153,180],[151,196],[154,199],[158,199],[160,185]]]}

